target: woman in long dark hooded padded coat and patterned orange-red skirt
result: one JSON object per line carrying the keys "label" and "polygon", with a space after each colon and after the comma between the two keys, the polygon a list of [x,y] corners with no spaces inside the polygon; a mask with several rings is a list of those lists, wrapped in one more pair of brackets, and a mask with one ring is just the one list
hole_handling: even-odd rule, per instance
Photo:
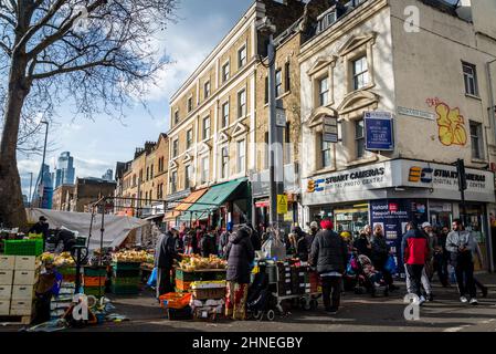
{"label": "woman in long dark hooded padded coat and patterned orange-red skirt", "polygon": [[250,228],[242,226],[231,235],[225,248],[225,259],[228,260],[225,316],[245,320],[250,272],[255,260]]}

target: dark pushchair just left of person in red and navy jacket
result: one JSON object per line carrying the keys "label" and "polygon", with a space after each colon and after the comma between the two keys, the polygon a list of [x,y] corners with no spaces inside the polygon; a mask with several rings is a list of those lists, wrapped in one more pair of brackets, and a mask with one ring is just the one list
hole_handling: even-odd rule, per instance
{"label": "dark pushchair just left of person in red and navy jacket", "polygon": [[389,287],[384,280],[384,277],[380,271],[373,268],[370,258],[365,254],[360,254],[355,259],[357,274],[355,293],[362,294],[369,292],[373,298],[377,296],[378,293],[382,293],[384,296],[388,296]]}

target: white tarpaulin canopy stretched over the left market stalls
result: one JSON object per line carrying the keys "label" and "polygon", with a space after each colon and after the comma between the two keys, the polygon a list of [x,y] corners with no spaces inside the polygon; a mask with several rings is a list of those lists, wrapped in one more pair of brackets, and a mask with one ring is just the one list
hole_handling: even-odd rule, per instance
{"label": "white tarpaulin canopy stretched over the left market stalls", "polygon": [[[41,216],[44,216],[51,229],[65,227],[72,231],[77,231],[80,236],[87,237],[89,235],[89,223],[92,222],[92,215],[89,212],[71,212],[57,211],[50,209],[27,209],[28,222],[38,222]],[[105,215],[104,220],[104,247],[119,247],[129,232],[143,228],[149,223],[138,218],[128,216]],[[95,215],[92,228],[92,238],[89,240],[89,250],[95,250],[101,247],[102,215]]]}

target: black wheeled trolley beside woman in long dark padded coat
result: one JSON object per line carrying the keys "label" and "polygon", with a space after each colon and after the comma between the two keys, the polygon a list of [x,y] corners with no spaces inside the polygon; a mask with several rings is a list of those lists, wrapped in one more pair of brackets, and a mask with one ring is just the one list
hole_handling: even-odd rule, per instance
{"label": "black wheeled trolley beside woman in long dark padded coat", "polygon": [[266,317],[268,321],[274,321],[276,306],[277,301],[270,289],[268,274],[261,268],[249,288],[246,319],[262,321]]}

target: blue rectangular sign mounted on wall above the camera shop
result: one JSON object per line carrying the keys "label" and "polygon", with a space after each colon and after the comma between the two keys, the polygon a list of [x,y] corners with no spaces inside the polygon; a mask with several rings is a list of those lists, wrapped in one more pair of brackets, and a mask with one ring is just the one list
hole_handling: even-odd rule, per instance
{"label": "blue rectangular sign mounted on wall above the camera shop", "polygon": [[387,112],[366,112],[365,114],[366,149],[393,150],[394,136],[392,115]]}

